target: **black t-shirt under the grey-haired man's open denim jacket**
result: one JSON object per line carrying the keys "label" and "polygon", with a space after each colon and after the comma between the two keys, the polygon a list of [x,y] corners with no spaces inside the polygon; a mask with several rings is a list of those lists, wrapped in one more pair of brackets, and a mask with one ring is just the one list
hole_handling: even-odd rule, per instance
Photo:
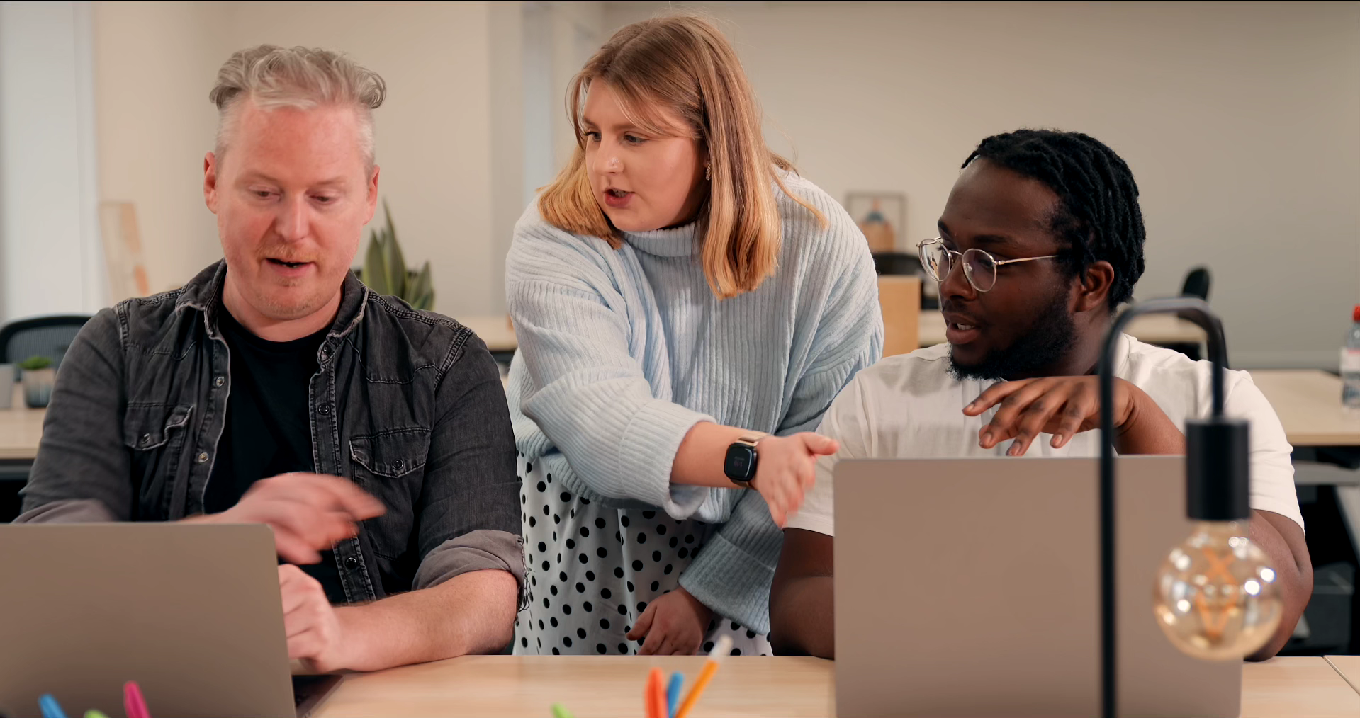
{"label": "black t-shirt under the grey-haired man's open denim jacket", "polygon": [[[231,352],[231,392],[204,494],[209,514],[235,506],[260,479],[316,471],[309,392],[318,369],[317,349],[329,329],[292,341],[268,341],[237,324],[227,307],[220,309],[218,328]],[[321,563],[301,568],[321,582],[332,604],[345,602],[333,552],[322,551]]]}

